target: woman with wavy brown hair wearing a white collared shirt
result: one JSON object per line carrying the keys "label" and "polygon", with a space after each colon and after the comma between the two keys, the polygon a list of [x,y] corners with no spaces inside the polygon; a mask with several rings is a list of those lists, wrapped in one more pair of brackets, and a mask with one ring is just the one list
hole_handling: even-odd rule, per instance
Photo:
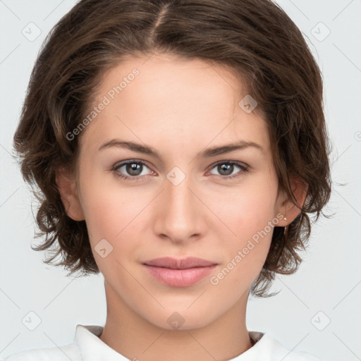
{"label": "woman with wavy brown hair wearing a white collared shirt", "polygon": [[58,265],[101,272],[104,326],[15,360],[319,360],[248,331],[329,200],[322,77],[268,0],[82,0],[14,137]]}

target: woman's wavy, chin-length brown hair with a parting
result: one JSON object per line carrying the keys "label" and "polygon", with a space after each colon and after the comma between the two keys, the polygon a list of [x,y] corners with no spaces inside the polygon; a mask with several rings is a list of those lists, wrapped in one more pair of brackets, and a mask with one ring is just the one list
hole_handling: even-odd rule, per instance
{"label": "woman's wavy, chin-length brown hair with a parting", "polygon": [[[276,274],[298,269],[310,214],[316,221],[331,193],[322,75],[298,27],[270,0],[82,0],[56,23],[32,69],[13,143],[39,201],[37,237],[45,239],[32,249],[49,249],[47,264],[61,255],[55,265],[70,274],[99,273],[85,221],[66,214],[56,169],[76,168],[81,135],[67,134],[89,114],[104,73],[126,56],[154,52],[231,68],[264,114],[279,189],[300,209],[286,228],[274,227],[250,288],[269,297]],[[291,176],[307,185],[302,205]]]}

